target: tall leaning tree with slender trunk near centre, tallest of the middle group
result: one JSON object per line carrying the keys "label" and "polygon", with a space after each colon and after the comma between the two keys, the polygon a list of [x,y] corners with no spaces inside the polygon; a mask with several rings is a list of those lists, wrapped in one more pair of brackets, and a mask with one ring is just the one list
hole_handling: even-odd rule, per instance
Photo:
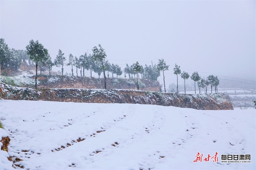
{"label": "tall leaning tree with slender trunk near centre, tallest of the middle group", "polygon": [[106,89],[106,75],[105,75],[105,66],[104,66],[104,58],[106,58],[105,50],[99,44],[99,48],[95,46],[92,49],[92,51],[93,51],[93,55],[92,55],[93,60],[99,61],[102,65],[102,70],[104,75],[104,88]]}

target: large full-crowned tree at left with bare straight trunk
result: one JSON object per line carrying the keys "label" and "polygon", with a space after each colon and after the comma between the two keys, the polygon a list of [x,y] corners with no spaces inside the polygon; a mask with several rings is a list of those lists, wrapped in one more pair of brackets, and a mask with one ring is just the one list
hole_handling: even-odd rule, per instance
{"label": "large full-crowned tree at left with bare straight trunk", "polygon": [[40,61],[46,61],[48,50],[37,41],[31,39],[29,45],[26,46],[27,54],[30,60],[35,62],[35,88],[37,88],[37,67]]}

